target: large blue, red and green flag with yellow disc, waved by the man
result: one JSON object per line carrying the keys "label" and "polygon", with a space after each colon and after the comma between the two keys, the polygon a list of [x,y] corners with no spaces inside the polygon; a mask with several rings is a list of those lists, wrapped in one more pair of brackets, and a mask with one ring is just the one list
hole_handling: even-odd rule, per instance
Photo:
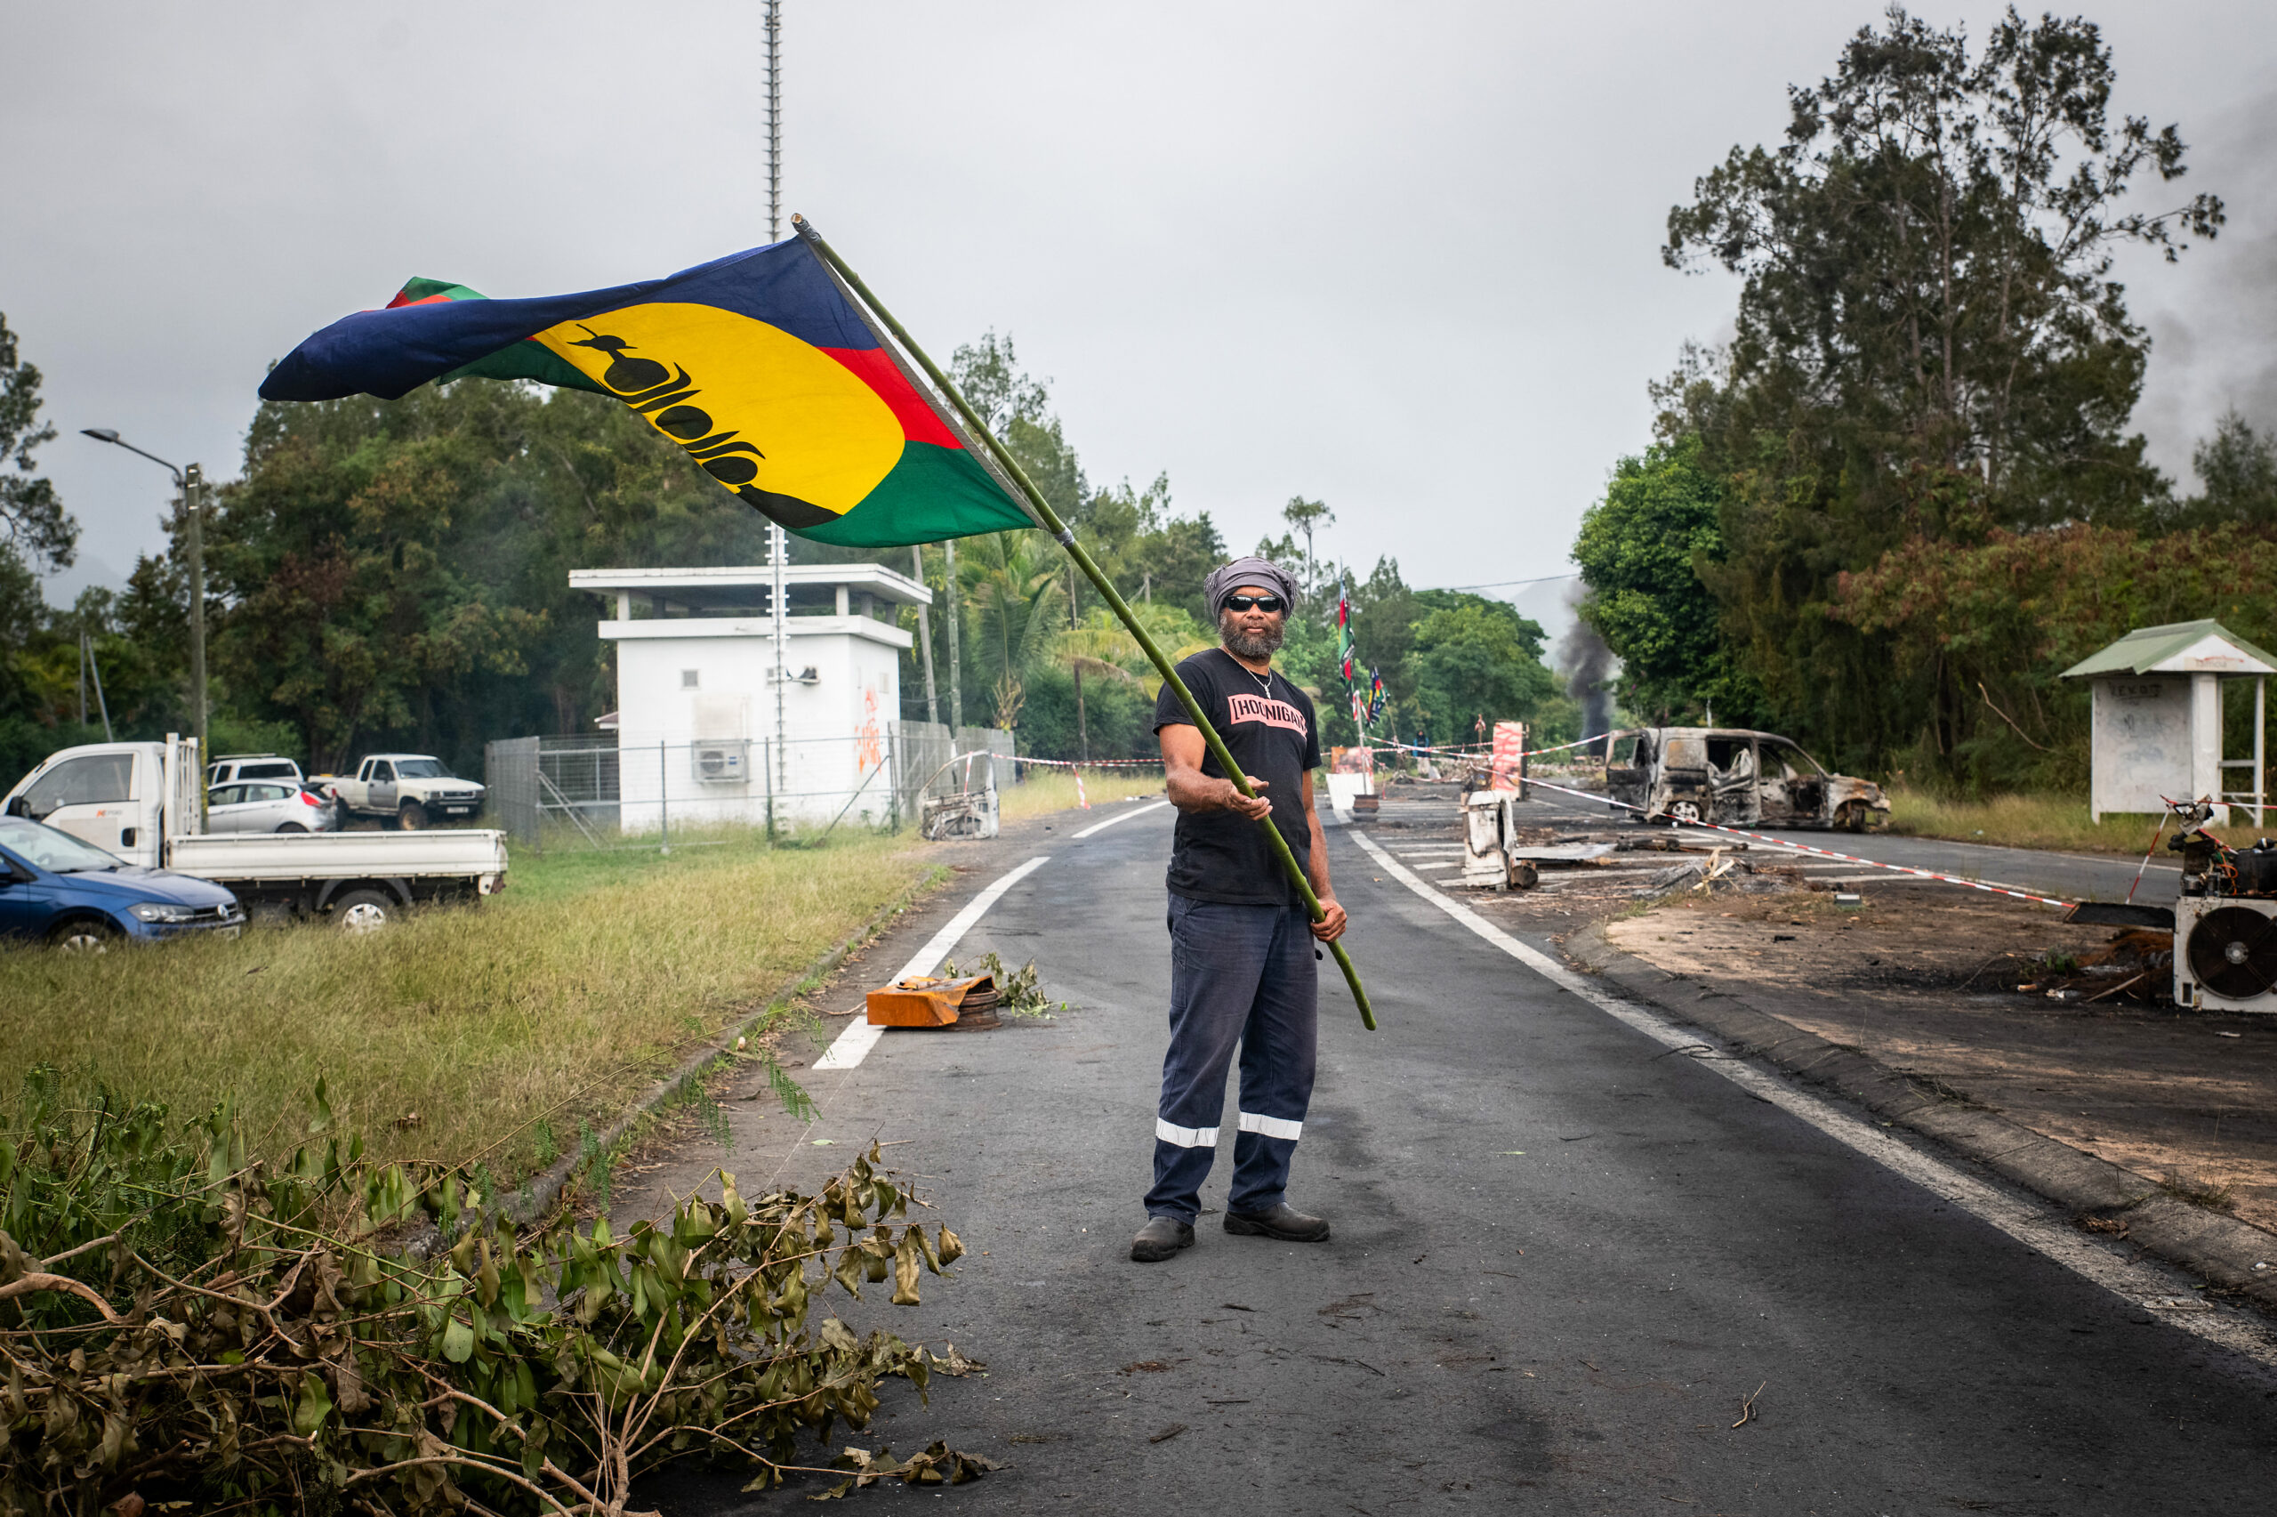
{"label": "large blue, red and green flag with yellow disc, waved by the man", "polygon": [[631,405],[774,522],[845,547],[1034,526],[1018,490],[802,239],[531,301],[412,280],[285,355],[264,401],[499,378]]}

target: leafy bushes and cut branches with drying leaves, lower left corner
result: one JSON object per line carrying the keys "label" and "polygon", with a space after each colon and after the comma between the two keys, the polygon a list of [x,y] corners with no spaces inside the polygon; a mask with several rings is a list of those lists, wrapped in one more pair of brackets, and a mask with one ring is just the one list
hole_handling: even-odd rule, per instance
{"label": "leafy bushes and cut branches with drying leaves, lower left corner", "polygon": [[[228,1107],[171,1132],[162,1107],[27,1082],[0,1128],[0,1510],[624,1512],[681,1458],[781,1483],[802,1430],[868,1426],[883,1378],[922,1394],[972,1367],[815,1319],[831,1285],[913,1305],[963,1253],[909,1221],[874,1148],[815,1196],[722,1173],[717,1203],[617,1237],[515,1232],[462,1175],[371,1166],[328,1125],[319,1086],[310,1143],[271,1168]],[[458,1241],[401,1248],[433,1228]]]}

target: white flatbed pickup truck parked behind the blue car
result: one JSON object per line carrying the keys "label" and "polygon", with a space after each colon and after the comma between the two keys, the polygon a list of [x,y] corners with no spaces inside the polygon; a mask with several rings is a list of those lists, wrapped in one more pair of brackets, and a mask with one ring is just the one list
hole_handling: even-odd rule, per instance
{"label": "white flatbed pickup truck parked behind the blue car", "polygon": [[198,743],[89,743],[48,754],[0,800],[96,847],[228,886],[260,916],[312,916],[348,932],[385,927],[412,902],[480,900],[505,888],[503,831],[207,834]]}

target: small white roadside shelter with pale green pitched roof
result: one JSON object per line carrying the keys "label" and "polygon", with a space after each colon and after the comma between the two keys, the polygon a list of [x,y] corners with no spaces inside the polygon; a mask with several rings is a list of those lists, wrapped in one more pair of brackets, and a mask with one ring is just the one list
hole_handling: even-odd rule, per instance
{"label": "small white roadside shelter with pale green pitched roof", "polygon": [[[2216,822],[2238,802],[2261,827],[2270,674],[2277,658],[2213,620],[2138,626],[2065,670],[2065,679],[2093,681],[2088,815],[2209,797]],[[2225,758],[2222,692],[2245,679],[2254,681],[2254,754]],[[2229,786],[2234,770],[2247,770],[2241,781],[2252,784]]]}

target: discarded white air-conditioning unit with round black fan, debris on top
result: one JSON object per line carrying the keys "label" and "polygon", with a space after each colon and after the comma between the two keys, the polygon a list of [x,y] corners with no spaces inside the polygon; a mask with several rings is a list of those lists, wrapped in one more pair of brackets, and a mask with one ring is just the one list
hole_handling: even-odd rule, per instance
{"label": "discarded white air-conditioning unit with round black fan, debris on top", "polygon": [[2175,806],[2181,854],[2175,902],[2175,1004],[2277,1011],[2277,843],[2231,847],[2211,831],[2211,800]]}

